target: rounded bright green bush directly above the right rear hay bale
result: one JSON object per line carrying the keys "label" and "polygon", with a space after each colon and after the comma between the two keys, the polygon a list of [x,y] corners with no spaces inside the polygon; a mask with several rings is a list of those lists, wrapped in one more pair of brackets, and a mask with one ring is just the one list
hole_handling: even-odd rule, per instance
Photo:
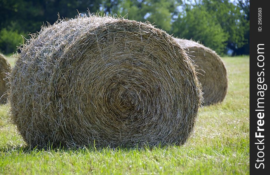
{"label": "rounded bright green bush directly above the right rear hay bale", "polygon": [[219,22],[204,8],[194,7],[179,17],[173,26],[174,35],[193,39],[221,54],[226,48],[227,35]]}

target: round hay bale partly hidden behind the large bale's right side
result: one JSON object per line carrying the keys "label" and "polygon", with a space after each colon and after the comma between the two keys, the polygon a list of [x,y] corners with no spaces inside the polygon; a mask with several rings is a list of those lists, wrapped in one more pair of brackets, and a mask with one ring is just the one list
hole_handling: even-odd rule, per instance
{"label": "round hay bale partly hidden behind the large bale's right side", "polygon": [[175,38],[198,66],[198,78],[204,93],[204,105],[222,102],[228,90],[226,67],[215,51],[195,41]]}

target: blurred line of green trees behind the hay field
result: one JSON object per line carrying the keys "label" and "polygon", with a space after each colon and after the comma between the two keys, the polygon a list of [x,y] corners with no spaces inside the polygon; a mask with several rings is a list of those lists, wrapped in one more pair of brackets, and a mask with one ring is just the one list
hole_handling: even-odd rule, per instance
{"label": "blurred line of green trees behind the hay field", "polygon": [[[77,11],[78,10],[78,11]],[[220,55],[249,54],[249,0],[0,0],[0,52],[16,51],[40,26],[79,13],[149,21]]]}

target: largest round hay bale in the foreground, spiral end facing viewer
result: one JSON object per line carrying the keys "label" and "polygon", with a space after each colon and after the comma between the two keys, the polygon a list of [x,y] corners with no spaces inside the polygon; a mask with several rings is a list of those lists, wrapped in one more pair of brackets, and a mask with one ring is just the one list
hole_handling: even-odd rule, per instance
{"label": "largest round hay bale in the foreground, spiral end facing viewer", "polygon": [[62,20],[17,57],[11,119],[30,146],[182,144],[193,129],[202,100],[195,67],[150,24]]}

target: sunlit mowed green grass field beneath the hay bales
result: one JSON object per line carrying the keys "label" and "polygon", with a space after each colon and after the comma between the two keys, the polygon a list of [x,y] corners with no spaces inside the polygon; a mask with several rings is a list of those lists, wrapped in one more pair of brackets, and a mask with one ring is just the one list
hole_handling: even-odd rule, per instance
{"label": "sunlit mowed green grass field beneath the hay bales", "polygon": [[0,174],[249,174],[249,56],[222,59],[226,99],[200,108],[183,146],[29,150],[1,105]]}

